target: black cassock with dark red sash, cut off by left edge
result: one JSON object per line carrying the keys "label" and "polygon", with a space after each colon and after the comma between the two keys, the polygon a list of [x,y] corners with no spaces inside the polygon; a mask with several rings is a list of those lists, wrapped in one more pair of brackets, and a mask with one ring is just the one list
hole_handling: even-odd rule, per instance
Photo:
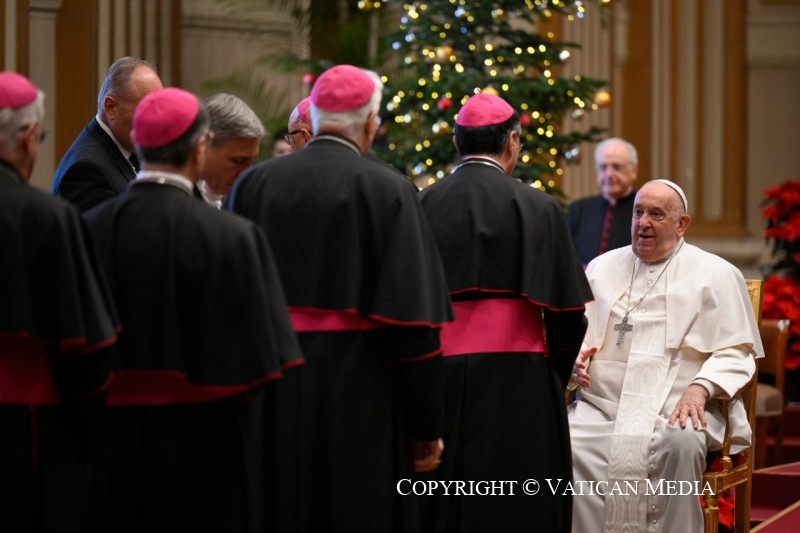
{"label": "black cassock with dark red sash, cut off by left edge", "polygon": [[0,529],[84,531],[82,467],[117,340],[78,211],[0,162]]}

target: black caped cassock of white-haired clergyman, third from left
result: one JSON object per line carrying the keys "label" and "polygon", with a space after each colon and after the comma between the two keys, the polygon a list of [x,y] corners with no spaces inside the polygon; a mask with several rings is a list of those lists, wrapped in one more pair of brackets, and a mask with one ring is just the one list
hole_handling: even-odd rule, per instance
{"label": "black caped cassock of white-haired clergyman, third from left", "polygon": [[[450,302],[416,189],[324,135],[247,171],[306,359],[276,383],[275,531],[417,531],[412,438],[440,436]],[[272,507],[274,504],[274,507]]]}

